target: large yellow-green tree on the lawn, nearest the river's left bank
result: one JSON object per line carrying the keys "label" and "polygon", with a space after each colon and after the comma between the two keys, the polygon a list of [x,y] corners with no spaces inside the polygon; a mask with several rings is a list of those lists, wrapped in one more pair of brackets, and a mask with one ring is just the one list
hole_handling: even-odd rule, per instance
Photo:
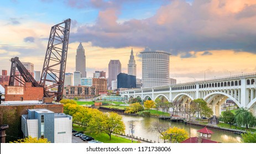
{"label": "large yellow-green tree on the lawn, nearest the river's left bank", "polygon": [[112,133],[124,133],[126,126],[123,123],[123,117],[117,113],[105,113],[104,119],[102,122],[102,131],[107,133],[109,140],[111,140]]}

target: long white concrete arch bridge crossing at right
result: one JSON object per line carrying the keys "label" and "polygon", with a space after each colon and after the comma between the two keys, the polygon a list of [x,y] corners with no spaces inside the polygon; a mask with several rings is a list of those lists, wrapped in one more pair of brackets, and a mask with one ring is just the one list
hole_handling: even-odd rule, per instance
{"label": "long white concrete arch bridge crossing at right", "polygon": [[221,105],[230,99],[238,107],[248,108],[256,115],[256,73],[228,76],[224,78],[194,81],[189,83],[147,87],[121,91],[121,96],[140,97],[147,100],[156,98],[180,101],[184,105],[197,98],[203,98],[212,108],[213,115],[220,116]]}

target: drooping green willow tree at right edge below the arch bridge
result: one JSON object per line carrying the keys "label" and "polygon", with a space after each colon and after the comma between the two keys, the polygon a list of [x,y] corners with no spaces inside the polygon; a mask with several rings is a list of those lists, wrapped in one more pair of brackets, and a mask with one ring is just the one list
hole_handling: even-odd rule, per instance
{"label": "drooping green willow tree at right edge below the arch bridge", "polygon": [[239,108],[235,113],[234,119],[238,125],[245,125],[246,129],[248,127],[255,127],[256,117],[248,109]]}

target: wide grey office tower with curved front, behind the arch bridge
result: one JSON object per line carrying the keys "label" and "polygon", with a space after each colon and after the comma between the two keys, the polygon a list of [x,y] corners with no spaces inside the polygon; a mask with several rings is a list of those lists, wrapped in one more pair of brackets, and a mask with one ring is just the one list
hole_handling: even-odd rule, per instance
{"label": "wide grey office tower with curved front, behind the arch bridge", "polygon": [[170,53],[140,52],[142,54],[142,87],[169,85]]}

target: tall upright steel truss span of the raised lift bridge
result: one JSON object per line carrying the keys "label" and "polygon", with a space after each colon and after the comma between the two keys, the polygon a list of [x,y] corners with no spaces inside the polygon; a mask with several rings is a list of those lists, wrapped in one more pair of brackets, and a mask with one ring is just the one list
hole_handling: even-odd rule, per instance
{"label": "tall upright steel truss span of the raised lift bridge", "polygon": [[[67,48],[69,45],[71,19],[51,27],[48,46],[45,54],[40,85],[44,87],[44,97],[55,98],[57,102],[62,99],[64,78],[67,61]],[[50,86],[45,86],[45,83]],[[53,87],[58,87],[55,91]]]}

